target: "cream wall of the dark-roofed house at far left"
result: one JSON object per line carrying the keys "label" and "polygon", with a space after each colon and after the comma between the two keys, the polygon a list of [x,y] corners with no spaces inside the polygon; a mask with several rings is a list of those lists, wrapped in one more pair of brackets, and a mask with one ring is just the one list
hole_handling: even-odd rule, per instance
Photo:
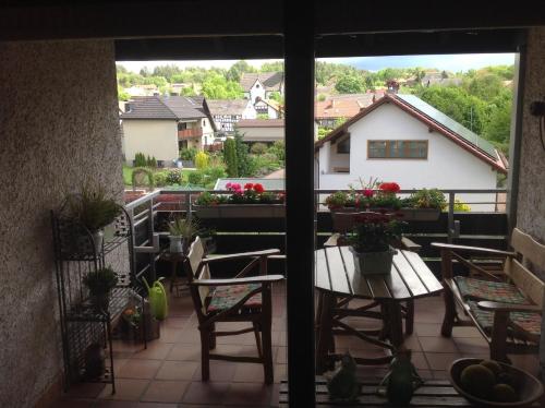
{"label": "cream wall of the dark-roofed house at far left", "polygon": [[155,156],[169,164],[178,158],[178,125],[175,120],[123,120],[125,158],[134,160],[136,153]]}

